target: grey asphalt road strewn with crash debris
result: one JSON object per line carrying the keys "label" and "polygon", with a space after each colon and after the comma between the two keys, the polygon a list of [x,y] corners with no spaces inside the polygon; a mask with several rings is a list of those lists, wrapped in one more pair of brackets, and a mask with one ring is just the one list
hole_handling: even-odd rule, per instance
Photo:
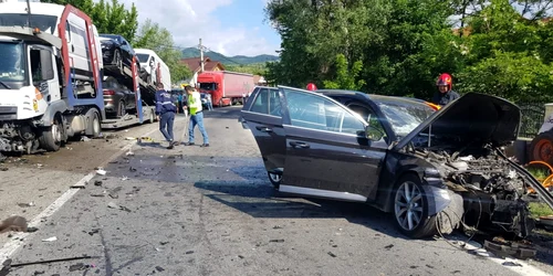
{"label": "grey asphalt road strewn with crash debris", "polygon": [[[363,204],[274,191],[238,113],[207,113],[209,148],[167,150],[156,124],[10,158],[0,166],[8,168],[0,170],[0,215],[22,215],[38,231],[0,234],[0,262],[13,265],[8,275],[553,273],[550,264],[461,250],[459,234],[407,240],[389,215]],[[184,121],[177,118],[177,137]],[[139,136],[154,142],[126,140]],[[90,174],[96,167],[106,174]],[[86,184],[71,188],[77,182]]]}

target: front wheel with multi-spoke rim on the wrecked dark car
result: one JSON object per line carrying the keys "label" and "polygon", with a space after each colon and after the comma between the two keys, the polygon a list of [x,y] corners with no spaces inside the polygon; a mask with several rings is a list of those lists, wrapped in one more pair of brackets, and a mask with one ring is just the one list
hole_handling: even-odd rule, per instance
{"label": "front wheel with multi-spoke rim on the wrecked dark car", "polygon": [[421,238],[438,233],[437,215],[428,215],[428,197],[416,174],[399,179],[393,200],[394,221],[404,235]]}

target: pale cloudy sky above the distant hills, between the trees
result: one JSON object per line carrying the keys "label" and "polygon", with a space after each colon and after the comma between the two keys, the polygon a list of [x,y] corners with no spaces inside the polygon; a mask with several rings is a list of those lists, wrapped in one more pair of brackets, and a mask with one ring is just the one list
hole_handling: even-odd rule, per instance
{"label": "pale cloudy sky above the distant hills, between the trees", "polygon": [[175,44],[181,47],[196,46],[201,38],[205,46],[229,56],[274,54],[278,49],[263,38],[259,26],[222,25],[212,15],[215,10],[230,6],[232,0],[119,0],[119,2],[125,3],[127,8],[135,3],[139,23],[149,18],[166,28],[173,34]]}

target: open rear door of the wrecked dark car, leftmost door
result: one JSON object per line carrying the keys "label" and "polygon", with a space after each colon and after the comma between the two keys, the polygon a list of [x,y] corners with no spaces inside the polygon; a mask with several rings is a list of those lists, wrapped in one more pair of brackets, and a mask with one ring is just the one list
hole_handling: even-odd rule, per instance
{"label": "open rear door of the wrecked dark car, leftmost door", "polygon": [[282,172],[286,141],[282,128],[279,89],[257,87],[242,108],[241,120],[252,131],[267,171]]}

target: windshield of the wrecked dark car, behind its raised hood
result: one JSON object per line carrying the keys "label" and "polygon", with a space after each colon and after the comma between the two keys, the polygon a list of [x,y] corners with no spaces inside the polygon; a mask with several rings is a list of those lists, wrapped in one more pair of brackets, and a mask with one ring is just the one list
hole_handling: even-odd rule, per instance
{"label": "windshield of the wrecked dark car, behind its raised hood", "polygon": [[411,99],[379,98],[374,102],[399,137],[408,135],[435,112],[425,103]]}

